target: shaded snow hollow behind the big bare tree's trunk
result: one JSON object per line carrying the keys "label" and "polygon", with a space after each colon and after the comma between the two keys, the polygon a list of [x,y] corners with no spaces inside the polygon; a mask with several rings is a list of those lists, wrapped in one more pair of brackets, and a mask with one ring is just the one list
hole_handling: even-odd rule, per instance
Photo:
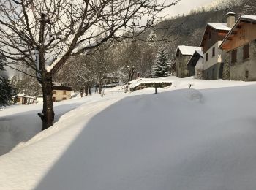
{"label": "shaded snow hollow behind the big bare tree's trunk", "polygon": [[[54,121],[59,121],[62,115],[78,106],[79,103],[54,106]],[[20,142],[27,142],[42,132],[42,121],[37,116],[39,112],[42,109],[0,117],[0,156],[11,151]]]}

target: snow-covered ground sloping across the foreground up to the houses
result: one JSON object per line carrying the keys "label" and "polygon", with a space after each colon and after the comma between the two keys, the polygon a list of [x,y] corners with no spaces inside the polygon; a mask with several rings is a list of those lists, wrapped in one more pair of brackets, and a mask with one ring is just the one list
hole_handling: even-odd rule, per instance
{"label": "snow-covered ground sloping across the foreground up to the houses", "polygon": [[0,189],[255,189],[256,83],[157,80],[173,86],[58,102],[44,132],[42,104],[2,110]]}

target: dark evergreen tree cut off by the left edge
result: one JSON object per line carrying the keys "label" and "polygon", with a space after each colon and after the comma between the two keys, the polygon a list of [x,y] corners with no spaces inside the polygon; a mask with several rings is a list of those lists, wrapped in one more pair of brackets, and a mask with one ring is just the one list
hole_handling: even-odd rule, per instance
{"label": "dark evergreen tree cut off by the left edge", "polygon": [[[4,71],[4,58],[0,57],[0,72]],[[10,86],[10,80],[0,75],[0,107],[7,105],[12,96],[15,96],[15,90]]]}

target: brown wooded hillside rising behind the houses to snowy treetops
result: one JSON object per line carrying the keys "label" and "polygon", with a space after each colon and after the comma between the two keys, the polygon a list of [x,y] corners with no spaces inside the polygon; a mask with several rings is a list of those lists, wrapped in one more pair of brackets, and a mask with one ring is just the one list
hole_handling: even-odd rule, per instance
{"label": "brown wooded hillside rising behind the houses to snowy treetops", "polygon": [[[119,77],[127,83],[129,69],[132,67],[135,74],[140,73],[140,77],[150,77],[160,48],[167,51],[172,63],[178,45],[200,45],[206,23],[226,23],[227,12],[235,12],[236,19],[240,15],[255,15],[255,5],[256,2],[251,0],[217,0],[206,7],[193,10],[189,15],[176,15],[163,20],[156,28],[148,29],[142,36],[132,39],[132,42],[114,42],[109,48],[106,48],[108,44],[99,47],[93,55],[71,58],[55,80],[80,91],[85,86],[87,88],[102,84],[102,79],[107,74]],[[38,91],[30,94],[37,95]]]}

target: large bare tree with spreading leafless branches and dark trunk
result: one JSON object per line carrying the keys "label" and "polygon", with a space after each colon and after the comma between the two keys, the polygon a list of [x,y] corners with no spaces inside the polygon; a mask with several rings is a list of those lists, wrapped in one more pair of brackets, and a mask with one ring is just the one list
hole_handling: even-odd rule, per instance
{"label": "large bare tree with spreading leafless branches and dark trunk", "polygon": [[70,56],[138,35],[178,1],[1,0],[0,53],[34,69],[44,96],[42,129],[53,125],[52,77]]}

